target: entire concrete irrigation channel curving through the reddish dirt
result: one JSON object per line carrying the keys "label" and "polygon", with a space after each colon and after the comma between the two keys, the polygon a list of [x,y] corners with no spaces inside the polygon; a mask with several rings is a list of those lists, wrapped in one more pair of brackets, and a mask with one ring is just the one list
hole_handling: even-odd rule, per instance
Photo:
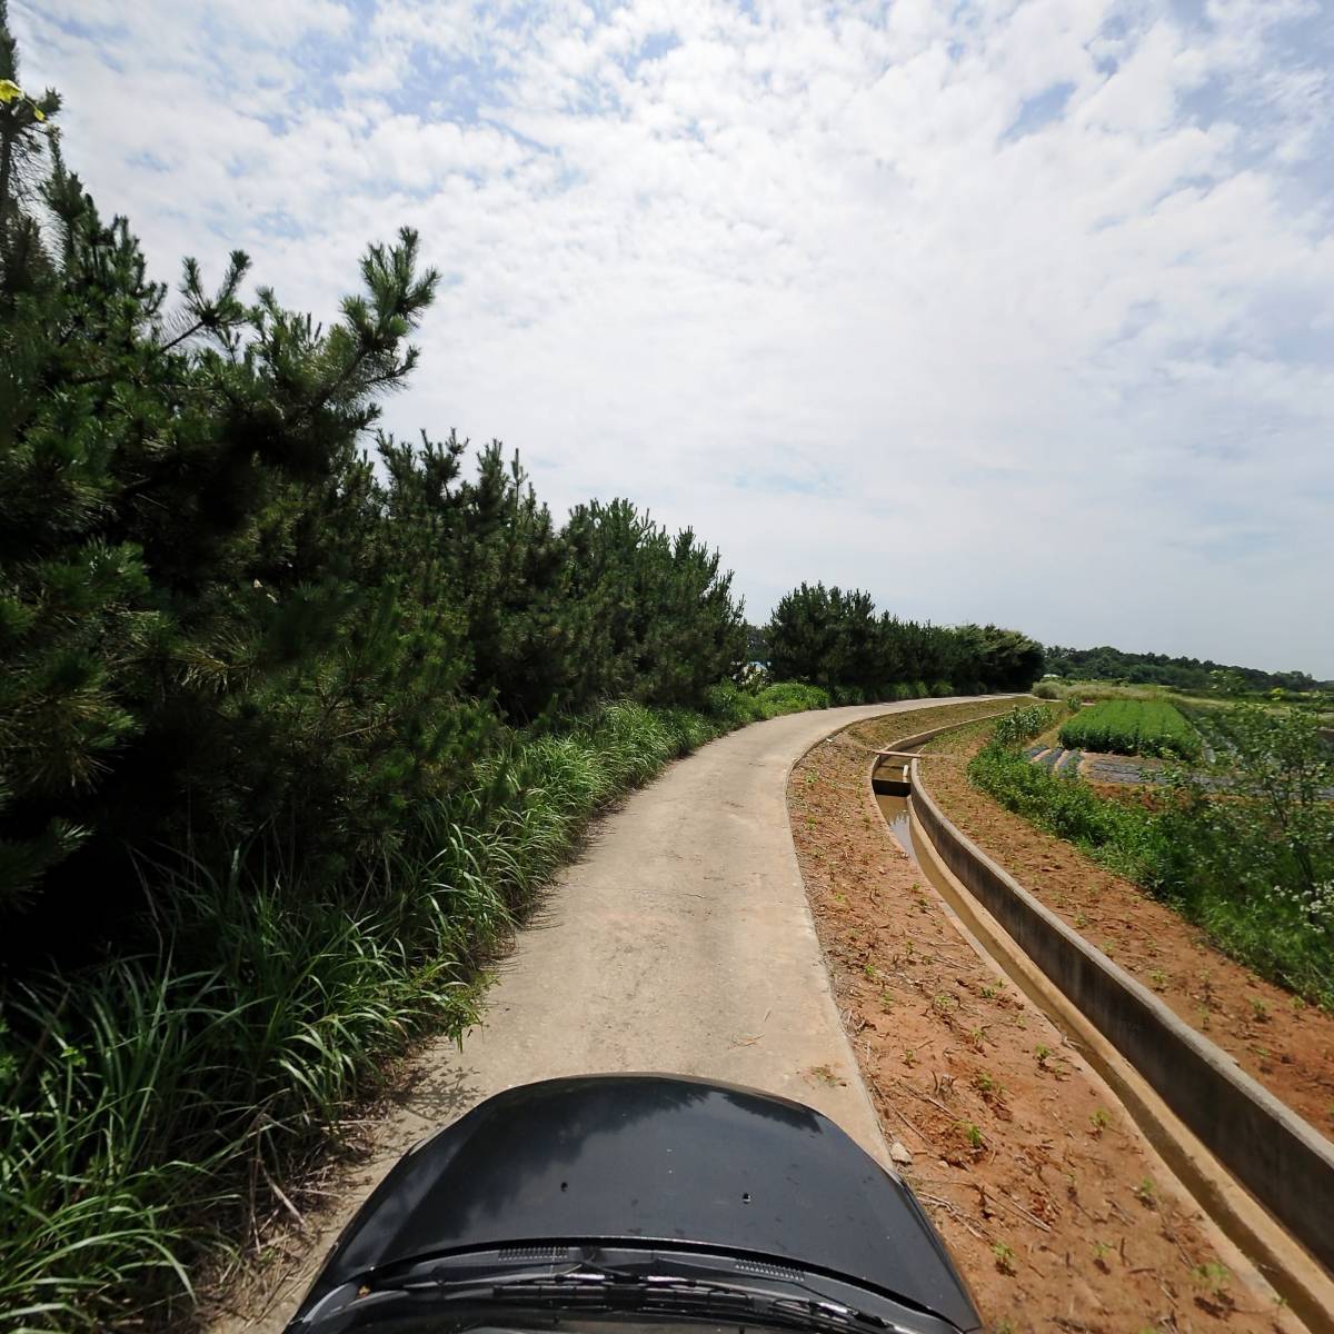
{"label": "entire concrete irrigation channel curving through the reddish dirt", "polygon": [[895,838],[1294,1313],[1311,1329],[1334,1329],[1334,1145],[944,815],[930,791],[930,763],[916,752],[952,730],[899,739],[872,758],[870,782]]}

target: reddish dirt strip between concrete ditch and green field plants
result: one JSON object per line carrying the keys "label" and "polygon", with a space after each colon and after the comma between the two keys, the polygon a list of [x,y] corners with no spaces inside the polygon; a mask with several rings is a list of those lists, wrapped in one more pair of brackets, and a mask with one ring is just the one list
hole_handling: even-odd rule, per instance
{"label": "reddish dirt strip between concrete ditch and green field plants", "polygon": [[966,766],[983,739],[970,728],[927,747],[926,782],[944,814],[1183,1023],[1321,1134],[1334,1134],[1334,1015],[1229,959],[1137,884],[979,792]]}

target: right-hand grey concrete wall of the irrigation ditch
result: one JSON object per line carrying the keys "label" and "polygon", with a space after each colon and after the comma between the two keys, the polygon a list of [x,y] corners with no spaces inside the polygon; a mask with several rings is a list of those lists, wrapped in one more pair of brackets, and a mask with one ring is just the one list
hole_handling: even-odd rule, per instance
{"label": "right-hand grey concrete wall of the irrigation ditch", "polygon": [[911,770],[916,822],[954,879],[1327,1278],[1334,1269],[1334,1145],[1039,903],[940,811],[918,760]]}

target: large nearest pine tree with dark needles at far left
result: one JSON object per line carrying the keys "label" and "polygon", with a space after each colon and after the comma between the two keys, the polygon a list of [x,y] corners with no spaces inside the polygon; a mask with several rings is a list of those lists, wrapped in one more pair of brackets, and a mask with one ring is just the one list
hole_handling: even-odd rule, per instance
{"label": "large nearest pine tree with dark needles at far left", "polygon": [[123,848],[265,831],[338,874],[486,731],[451,704],[434,558],[391,552],[360,443],[436,275],[404,231],[327,331],[245,304],[240,253],[213,292],[187,260],[171,301],[65,169],[57,107],[0,104],[0,907],[41,882],[48,911],[85,886],[109,911]]}

